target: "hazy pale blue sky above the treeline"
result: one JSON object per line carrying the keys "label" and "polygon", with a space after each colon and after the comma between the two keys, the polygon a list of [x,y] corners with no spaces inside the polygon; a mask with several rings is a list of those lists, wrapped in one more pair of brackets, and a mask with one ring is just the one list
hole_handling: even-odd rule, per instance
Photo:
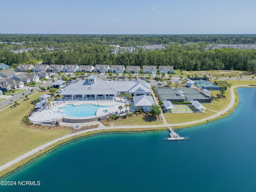
{"label": "hazy pale blue sky above the treeline", "polygon": [[256,34],[256,0],[0,0],[0,33]]}

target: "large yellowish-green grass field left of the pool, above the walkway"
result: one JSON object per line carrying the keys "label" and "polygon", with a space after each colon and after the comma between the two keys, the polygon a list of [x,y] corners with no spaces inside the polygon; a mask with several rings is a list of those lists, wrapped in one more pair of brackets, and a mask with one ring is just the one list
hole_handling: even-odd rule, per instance
{"label": "large yellowish-green grass field left of the pool, above the walkway", "polygon": [[[48,92],[45,92],[48,93]],[[46,142],[70,133],[68,129],[36,130],[21,124],[22,118],[28,114],[33,105],[30,104],[42,92],[22,100],[15,108],[0,112],[0,165],[32,150]]]}

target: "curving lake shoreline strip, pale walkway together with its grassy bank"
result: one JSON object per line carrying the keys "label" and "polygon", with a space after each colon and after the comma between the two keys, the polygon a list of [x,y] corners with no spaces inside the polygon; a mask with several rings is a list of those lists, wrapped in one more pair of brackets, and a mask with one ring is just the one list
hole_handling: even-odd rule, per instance
{"label": "curving lake shoreline strip, pale walkway together with its grassy bank", "polygon": [[30,162],[34,158],[41,156],[45,152],[48,152],[49,150],[52,150],[53,148],[61,144],[64,144],[66,142],[72,141],[76,138],[86,137],[93,134],[108,133],[108,132],[141,132],[141,131],[152,131],[152,130],[165,130],[168,126],[172,126],[174,129],[180,129],[180,128],[186,128],[191,126],[197,126],[200,124],[208,123],[208,122],[226,117],[236,108],[239,102],[236,88],[241,88],[241,87],[255,88],[254,86],[247,86],[247,85],[231,87],[230,88],[231,100],[228,106],[224,110],[208,118],[194,121],[194,123],[187,122],[187,123],[180,123],[180,124],[163,124],[163,125],[157,125],[157,126],[154,126],[154,125],[152,126],[116,126],[116,127],[106,127],[106,128],[94,128],[94,130],[84,130],[81,132],[76,132],[73,134],[62,136],[46,144],[43,144],[42,146],[34,148],[33,150],[30,150],[29,152],[23,154],[22,156],[19,156],[18,158],[15,158],[14,160],[11,160],[10,162],[0,166],[0,178],[16,170],[16,168],[19,168],[24,164]]}

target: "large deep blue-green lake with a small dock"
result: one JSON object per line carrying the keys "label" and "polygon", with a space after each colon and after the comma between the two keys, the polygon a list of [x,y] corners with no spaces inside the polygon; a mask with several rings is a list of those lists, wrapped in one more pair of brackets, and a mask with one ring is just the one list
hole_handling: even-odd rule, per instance
{"label": "large deep blue-green lake with a small dock", "polygon": [[249,192],[256,191],[256,89],[218,121],[178,130],[189,140],[165,141],[167,131],[103,134],[60,146],[0,180],[40,186],[0,191]]}

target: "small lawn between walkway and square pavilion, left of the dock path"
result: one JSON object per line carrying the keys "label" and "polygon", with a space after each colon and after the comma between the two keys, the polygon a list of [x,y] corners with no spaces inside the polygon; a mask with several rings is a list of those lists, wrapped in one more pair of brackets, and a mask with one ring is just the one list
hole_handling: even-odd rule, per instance
{"label": "small lawn between walkway and square pavilion, left of the dock path", "polygon": [[125,119],[117,119],[112,122],[113,126],[129,126],[129,125],[162,125],[163,122],[156,120],[150,115],[134,116]]}

